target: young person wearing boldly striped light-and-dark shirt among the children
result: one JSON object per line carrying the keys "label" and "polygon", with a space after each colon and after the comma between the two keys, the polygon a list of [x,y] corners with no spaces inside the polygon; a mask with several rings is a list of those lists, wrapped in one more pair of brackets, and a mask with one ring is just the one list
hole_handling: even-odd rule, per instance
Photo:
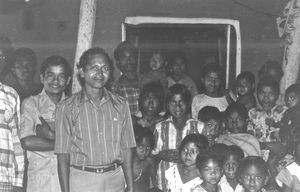
{"label": "young person wearing boldly striped light-and-dark shirt among the children", "polygon": [[153,154],[158,161],[159,187],[166,191],[167,181],[165,180],[165,170],[174,162],[178,162],[178,149],[182,139],[191,133],[202,133],[203,123],[191,119],[190,104],[191,94],[182,84],[176,84],[169,88],[167,98],[167,114],[169,118],[156,124],[154,135],[156,138],[156,148]]}

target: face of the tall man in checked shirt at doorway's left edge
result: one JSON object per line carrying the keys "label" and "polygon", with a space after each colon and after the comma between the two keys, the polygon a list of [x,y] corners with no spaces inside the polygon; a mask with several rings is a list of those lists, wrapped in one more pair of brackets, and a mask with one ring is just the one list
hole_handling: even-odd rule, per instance
{"label": "face of the tall man in checked shirt at doorway's left edge", "polygon": [[137,67],[135,54],[130,50],[124,50],[120,53],[117,64],[122,72],[135,72]]}

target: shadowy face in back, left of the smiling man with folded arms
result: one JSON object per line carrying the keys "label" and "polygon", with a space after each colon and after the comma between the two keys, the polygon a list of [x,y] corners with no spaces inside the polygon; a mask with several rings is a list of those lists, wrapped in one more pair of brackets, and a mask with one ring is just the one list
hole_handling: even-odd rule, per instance
{"label": "shadowy face in back, left of the smiling man with folded arms", "polygon": [[12,72],[19,81],[29,81],[34,77],[35,65],[32,59],[21,57],[16,60]]}

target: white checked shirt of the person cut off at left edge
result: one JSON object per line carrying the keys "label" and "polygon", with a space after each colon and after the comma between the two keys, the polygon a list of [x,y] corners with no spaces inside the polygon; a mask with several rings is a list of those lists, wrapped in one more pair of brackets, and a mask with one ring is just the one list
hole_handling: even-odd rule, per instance
{"label": "white checked shirt of the person cut off at left edge", "polygon": [[24,151],[19,139],[20,98],[0,83],[0,183],[22,187]]}

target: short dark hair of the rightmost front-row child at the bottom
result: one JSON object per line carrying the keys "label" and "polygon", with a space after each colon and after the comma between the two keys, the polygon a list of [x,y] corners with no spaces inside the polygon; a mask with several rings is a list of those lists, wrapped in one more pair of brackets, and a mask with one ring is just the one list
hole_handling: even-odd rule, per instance
{"label": "short dark hair of the rightmost front-row child at the bottom", "polygon": [[237,175],[241,176],[251,165],[254,165],[258,170],[261,170],[265,176],[268,176],[268,164],[259,156],[248,156],[243,159],[238,167]]}

